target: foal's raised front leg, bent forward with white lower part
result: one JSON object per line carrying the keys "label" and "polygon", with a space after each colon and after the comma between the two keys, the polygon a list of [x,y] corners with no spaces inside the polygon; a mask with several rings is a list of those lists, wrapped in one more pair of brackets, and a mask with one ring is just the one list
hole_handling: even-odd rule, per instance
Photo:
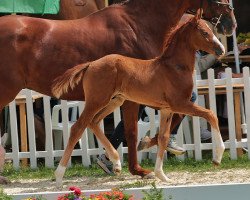
{"label": "foal's raised front leg, bent forward with white lower part", "polygon": [[186,115],[203,117],[210,123],[212,128],[215,130],[214,138],[215,138],[215,146],[216,146],[215,147],[216,155],[215,155],[215,158],[213,159],[213,162],[216,165],[220,164],[222,156],[223,156],[223,152],[225,150],[225,145],[223,143],[223,140],[220,134],[218,118],[213,113],[213,111],[209,109],[205,109],[191,102],[173,107],[172,110],[173,112],[183,113]]}

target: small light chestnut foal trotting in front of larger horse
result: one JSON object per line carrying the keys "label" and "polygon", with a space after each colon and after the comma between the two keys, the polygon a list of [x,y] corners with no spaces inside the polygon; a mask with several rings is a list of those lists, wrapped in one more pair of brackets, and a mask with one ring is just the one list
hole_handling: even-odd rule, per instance
{"label": "small light chestnut foal trotting in front of larger horse", "polygon": [[190,102],[197,50],[216,56],[225,53],[221,42],[206,22],[201,20],[201,12],[197,12],[190,21],[173,31],[163,53],[155,59],[141,60],[112,54],[93,62],[77,65],[58,77],[52,89],[53,94],[59,98],[63,93],[67,93],[69,88],[74,89],[81,81],[85,107],[72,126],[67,147],[55,172],[57,183],[61,185],[64,170],[74,146],[87,127],[92,129],[105,147],[113,162],[113,171],[120,172],[119,154],[101,130],[100,122],[125,100],[156,107],[161,111],[159,148],[154,170],[160,180],[164,182],[169,180],[162,166],[174,113],[200,116],[208,120],[216,130],[214,162],[219,164],[225,146],[218,119],[211,110]]}

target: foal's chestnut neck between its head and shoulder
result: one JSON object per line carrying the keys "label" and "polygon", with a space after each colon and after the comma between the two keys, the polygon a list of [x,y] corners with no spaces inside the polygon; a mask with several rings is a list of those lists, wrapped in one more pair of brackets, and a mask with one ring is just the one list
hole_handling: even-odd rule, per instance
{"label": "foal's chestnut neck between its head and shoulder", "polygon": [[196,49],[192,44],[192,25],[187,22],[173,31],[166,41],[166,48],[161,56],[157,58],[162,65],[173,65],[178,69],[193,72],[195,64]]}

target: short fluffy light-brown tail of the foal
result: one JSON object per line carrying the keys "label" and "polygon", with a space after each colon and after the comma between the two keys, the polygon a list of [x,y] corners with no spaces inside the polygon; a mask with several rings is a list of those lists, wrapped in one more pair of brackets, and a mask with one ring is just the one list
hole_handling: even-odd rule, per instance
{"label": "short fluffy light-brown tail of the foal", "polygon": [[82,80],[84,72],[89,66],[89,62],[85,64],[77,65],[71,69],[68,69],[63,75],[54,80],[52,85],[52,94],[59,98],[64,93],[68,92],[69,87],[74,87]]}

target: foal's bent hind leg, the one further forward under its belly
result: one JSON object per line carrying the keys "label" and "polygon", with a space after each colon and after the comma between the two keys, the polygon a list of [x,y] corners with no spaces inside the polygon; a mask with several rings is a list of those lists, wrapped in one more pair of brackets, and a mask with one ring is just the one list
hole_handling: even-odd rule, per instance
{"label": "foal's bent hind leg, the one further forward under its belly", "polygon": [[89,126],[93,130],[95,136],[101,141],[106,152],[108,153],[109,159],[113,163],[113,171],[115,173],[119,173],[121,171],[121,161],[119,158],[119,154],[107,139],[99,124],[103,118],[112,113],[117,107],[121,106],[123,102],[124,98],[121,96],[112,99],[105,108],[103,108],[98,114],[96,114]]}

